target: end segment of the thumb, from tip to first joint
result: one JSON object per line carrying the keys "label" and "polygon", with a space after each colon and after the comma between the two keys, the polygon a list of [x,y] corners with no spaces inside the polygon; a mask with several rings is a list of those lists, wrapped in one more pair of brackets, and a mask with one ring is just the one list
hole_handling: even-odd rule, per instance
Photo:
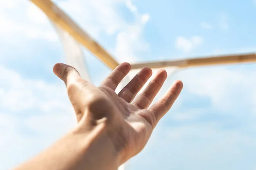
{"label": "end segment of the thumb, from tip to first joint", "polygon": [[65,82],[67,87],[81,78],[76,68],[63,63],[55,64],[53,66],[53,72]]}

